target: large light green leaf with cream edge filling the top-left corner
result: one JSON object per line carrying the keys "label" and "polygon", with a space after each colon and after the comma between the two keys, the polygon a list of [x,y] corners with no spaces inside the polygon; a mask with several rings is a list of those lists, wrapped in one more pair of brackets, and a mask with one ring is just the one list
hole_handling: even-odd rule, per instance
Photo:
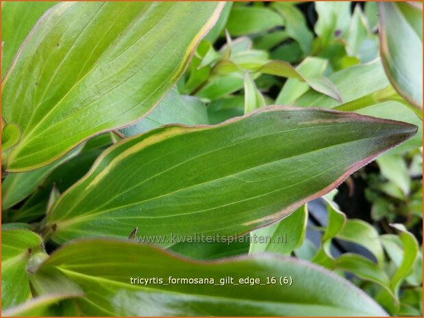
{"label": "large light green leaf with cream edge filling the top-left corner", "polygon": [[3,117],[21,142],[7,170],[32,170],[91,135],[123,127],[182,75],[221,11],[216,2],[64,2],[49,10],[3,81]]}

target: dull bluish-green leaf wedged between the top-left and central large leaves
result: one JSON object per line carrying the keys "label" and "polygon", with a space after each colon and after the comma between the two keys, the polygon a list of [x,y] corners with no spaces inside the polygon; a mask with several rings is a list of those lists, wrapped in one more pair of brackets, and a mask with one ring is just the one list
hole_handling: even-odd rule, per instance
{"label": "dull bluish-green leaf wedged between the top-left and central large leaves", "polygon": [[164,124],[208,124],[208,114],[205,104],[193,96],[181,96],[177,90],[171,90],[151,114],[139,120],[136,124],[121,129],[120,132],[129,137],[145,133]]}

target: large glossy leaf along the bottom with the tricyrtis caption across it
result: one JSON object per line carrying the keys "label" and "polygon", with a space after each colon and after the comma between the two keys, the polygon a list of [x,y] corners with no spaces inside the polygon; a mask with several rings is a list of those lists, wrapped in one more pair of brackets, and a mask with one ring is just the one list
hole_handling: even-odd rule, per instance
{"label": "large glossy leaf along the bottom with the tricyrtis caption across it", "polygon": [[[169,284],[170,276],[214,282]],[[238,285],[215,285],[227,277]],[[240,284],[248,277],[265,285]],[[266,284],[267,277],[270,282],[275,277],[275,284]],[[284,277],[287,284],[281,285]],[[84,240],[55,252],[32,282],[49,291],[55,278],[60,279],[56,284],[68,279],[82,288],[85,297],[75,302],[89,316],[386,315],[360,289],[329,271],[272,254],[198,263],[142,244]],[[163,282],[140,284],[137,278]]]}

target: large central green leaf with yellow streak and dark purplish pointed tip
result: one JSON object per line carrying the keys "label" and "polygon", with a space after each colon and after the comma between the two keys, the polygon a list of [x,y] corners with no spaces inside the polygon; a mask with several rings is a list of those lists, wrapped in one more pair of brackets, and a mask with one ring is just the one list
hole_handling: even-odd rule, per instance
{"label": "large central green leaf with yellow streak and dark purplish pointed tip", "polygon": [[240,235],[326,194],[416,127],[339,111],[264,107],[216,126],[167,126],[108,148],[47,216],[77,237]]}

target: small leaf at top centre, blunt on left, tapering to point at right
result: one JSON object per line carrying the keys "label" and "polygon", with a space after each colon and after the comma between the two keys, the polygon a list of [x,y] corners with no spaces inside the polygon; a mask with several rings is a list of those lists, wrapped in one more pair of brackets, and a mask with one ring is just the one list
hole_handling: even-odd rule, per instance
{"label": "small leaf at top centre, blunt on left, tapering to point at right", "polygon": [[233,7],[225,28],[232,36],[244,36],[282,25],[282,17],[268,8]]}

